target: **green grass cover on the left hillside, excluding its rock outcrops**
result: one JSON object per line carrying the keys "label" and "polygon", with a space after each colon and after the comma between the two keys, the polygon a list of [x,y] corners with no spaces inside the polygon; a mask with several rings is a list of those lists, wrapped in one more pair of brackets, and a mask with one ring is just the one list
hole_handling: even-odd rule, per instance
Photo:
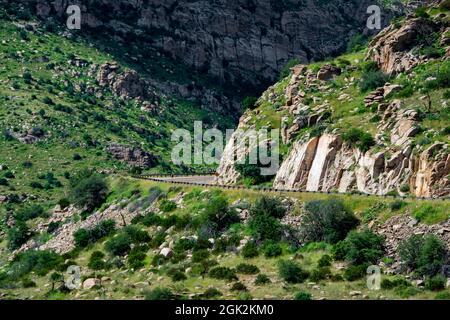
{"label": "green grass cover on the left hillside, excluding its rock outcrops", "polygon": [[[64,193],[63,188],[39,190],[30,182],[38,176],[53,172],[63,185],[64,172],[73,173],[82,167],[127,170],[127,166],[114,161],[104,151],[111,142],[142,145],[146,151],[161,156],[163,166],[152,169],[164,171],[170,168],[170,133],[175,128],[192,129],[194,120],[211,118],[211,124],[232,126],[230,118],[208,113],[188,102],[169,99],[161,95],[161,113],[156,116],[140,111],[133,101],[116,99],[108,90],[102,98],[82,94],[70,89],[79,85],[96,86],[95,74],[89,74],[89,66],[74,67],[68,60],[76,56],[90,64],[113,61],[111,55],[91,47],[79,39],[70,40],[43,31],[21,31],[11,22],[0,20],[0,165],[8,170],[0,171],[0,177],[11,171],[14,179],[9,186],[0,186],[0,194],[31,194],[38,201],[53,201]],[[45,62],[42,58],[48,58]],[[42,61],[42,62],[41,62]],[[159,61],[146,60],[145,68]],[[72,72],[79,72],[78,77]],[[24,79],[31,75],[31,81]],[[55,105],[70,108],[70,113],[57,111],[46,104],[50,98]],[[36,144],[25,145],[17,140],[6,141],[5,130],[26,132],[41,127],[48,137]],[[89,146],[88,140],[97,142]],[[82,159],[74,161],[74,154]],[[24,168],[31,162],[31,168]],[[167,165],[166,165],[167,164]],[[173,169],[173,168],[172,168]],[[176,168],[175,168],[176,170]]]}

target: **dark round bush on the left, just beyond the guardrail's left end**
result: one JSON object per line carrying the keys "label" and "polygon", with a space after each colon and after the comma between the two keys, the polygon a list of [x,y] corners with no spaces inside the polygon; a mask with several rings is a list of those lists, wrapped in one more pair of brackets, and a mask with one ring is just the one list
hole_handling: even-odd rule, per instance
{"label": "dark round bush on the left, just beyond the guardrail's left end", "polygon": [[106,180],[99,174],[81,173],[71,182],[70,198],[79,208],[92,212],[101,206],[108,196],[109,189]]}

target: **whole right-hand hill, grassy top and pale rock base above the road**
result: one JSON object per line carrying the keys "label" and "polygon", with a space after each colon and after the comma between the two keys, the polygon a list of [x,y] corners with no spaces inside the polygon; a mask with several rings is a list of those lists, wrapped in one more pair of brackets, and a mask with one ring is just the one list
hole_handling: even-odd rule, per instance
{"label": "whole right-hand hill, grassy top and pale rock base above the road", "polygon": [[[397,21],[364,51],[296,66],[269,88],[239,128],[281,129],[273,186],[448,196],[449,35],[448,9],[432,9]],[[226,150],[219,181],[251,178]]]}

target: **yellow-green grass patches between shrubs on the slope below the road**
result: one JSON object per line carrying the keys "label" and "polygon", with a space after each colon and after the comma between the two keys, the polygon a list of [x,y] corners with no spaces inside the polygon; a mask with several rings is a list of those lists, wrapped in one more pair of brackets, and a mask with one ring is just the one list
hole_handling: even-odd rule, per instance
{"label": "yellow-green grass patches between shrubs on the slope below the road", "polygon": [[[151,181],[145,180],[134,180],[127,178],[111,178],[110,179],[111,186],[113,188],[113,192],[108,199],[109,203],[115,202],[119,199],[127,199],[127,202],[133,202],[136,197],[133,197],[132,194],[136,194],[136,190],[141,191],[141,196],[145,197],[148,194],[148,191],[152,187],[160,187],[163,191],[168,193],[168,197],[175,197],[179,192],[183,191],[186,193],[197,194],[199,195],[202,190],[195,187],[180,187],[174,188],[171,184],[166,183],[155,183]],[[234,200],[242,199],[253,202],[260,194],[256,191],[233,191],[226,190],[224,191],[229,203],[232,203]],[[317,194],[292,194],[292,193],[283,193],[283,196],[292,196],[294,198],[298,198],[301,202],[308,200],[317,200],[326,198],[326,195],[317,195]],[[385,207],[381,209],[377,214],[380,222],[385,220],[386,218],[394,215],[394,214],[411,214],[414,211],[414,208],[417,206],[421,206],[426,204],[427,202],[418,202],[418,201],[407,201],[407,204],[400,210],[396,212],[392,212],[389,209],[389,203],[393,200],[386,199],[380,200],[377,197],[366,197],[366,196],[337,196],[342,199],[345,204],[355,210],[356,214],[363,219],[364,212],[371,207],[383,203]],[[191,216],[195,216],[199,210],[201,210],[203,204],[203,200],[200,198],[191,198],[187,199],[184,202],[184,208],[176,209],[171,214],[175,215],[184,215],[186,213]],[[442,212],[445,212],[445,208],[449,205],[448,202],[442,202],[438,204],[438,207],[441,208]],[[448,218],[448,217],[447,217]],[[442,220],[442,219],[441,219]],[[155,227],[144,228],[146,231],[150,233],[150,235],[155,234]],[[241,230],[244,234],[246,234],[246,229],[244,226],[235,225],[232,227],[234,230]],[[177,239],[182,235],[191,234],[189,230],[185,231],[177,231],[174,237]],[[179,266],[178,264],[166,264],[161,268],[154,268],[151,266],[151,260],[153,256],[157,253],[157,250],[150,250],[147,253],[147,258],[145,259],[145,267],[139,272],[132,269],[113,269],[109,271],[92,271],[87,267],[87,263],[89,261],[89,257],[92,252],[100,250],[104,251],[104,243],[105,241],[99,241],[98,243],[89,246],[87,249],[80,252],[78,257],[75,259],[77,265],[79,265],[82,269],[82,279],[88,277],[109,277],[109,280],[106,280],[102,283],[100,289],[93,290],[75,290],[68,294],[62,293],[52,293],[48,295],[49,276],[46,277],[38,277],[36,275],[31,275],[29,278],[36,282],[36,288],[18,288],[14,290],[5,290],[8,294],[7,297],[29,297],[33,299],[94,299],[96,297],[100,298],[108,298],[108,299],[135,299],[142,298],[143,292],[145,290],[149,290],[156,287],[169,287],[174,292],[187,297],[189,294],[199,294],[204,292],[209,287],[214,287],[221,291],[224,296],[222,299],[239,299],[239,298],[248,298],[248,294],[236,293],[230,291],[230,283],[228,281],[223,280],[215,280],[209,277],[198,277],[198,276],[188,276],[187,280],[181,282],[173,282],[165,272],[174,266]],[[401,299],[405,298],[404,291],[395,291],[395,290],[380,290],[380,291],[370,291],[366,287],[365,280],[357,280],[357,281],[320,281],[317,283],[320,289],[312,288],[313,284],[307,282],[298,285],[289,285],[285,284],[278,276],[277,271],[277,263],[279,259],[291,259],[294,254],[289,253],[286,246],[283,246],[283,255],[278,258],[265,258],[263,256],[259,256],[257,258],[252,259],[244,259],[241,256],[235,255],[234,253],[226,253],[221,255],[215,255],[213,258],[217,260],[220,265],[228,266],[230,268],[235,267],[239,263],[250,263],[256,265],[261,273],[267,274],[271,279],[272,283],[264,286],[255,286],[253,284],[255,275],[239,275],[239,280],[244,283],[249,289],[249,294],[253,298],[277,298],[277,299],[292,299],[292,296],[298,291],[307,291],[313,295],[314,299],[319,298],[327,298],[327,299],[352,299],[350,296],[351,291],[361,291],[362,295],[358,297],[354,297],[355,299],[360,299],[363,296],[367,296],[367,299]],[[302,250],[300,251],[303,258],[298,259],[297,262],[302,266],[302,268],[306,270],[313,270],[316,268],[318,259],[324,255],[330,253],[329,247],[319,247],[316,250]],[[181,264],[184,264],[182,262]],[[339,274],[342,270],[339,269],[339,264],[333,264],[332,266],[333,274]],[[391,276],[383,276],[387,278],[391,278]],[[418,290],[414,295],[412,295],[411,299],[433,299],[435,297],[435,293],[427,290]]]}

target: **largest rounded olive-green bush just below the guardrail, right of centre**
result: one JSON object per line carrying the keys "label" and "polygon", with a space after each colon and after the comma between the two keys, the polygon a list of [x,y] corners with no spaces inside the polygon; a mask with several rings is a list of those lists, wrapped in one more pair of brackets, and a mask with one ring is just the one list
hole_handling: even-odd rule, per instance
{"label": "largest rounded olive-green bush just below the guardrail, right of centre", "polygon": [[336,243],[357,225],[358,219],[342,201],[317,200],[306,203],[300,231],[306,241]]}

